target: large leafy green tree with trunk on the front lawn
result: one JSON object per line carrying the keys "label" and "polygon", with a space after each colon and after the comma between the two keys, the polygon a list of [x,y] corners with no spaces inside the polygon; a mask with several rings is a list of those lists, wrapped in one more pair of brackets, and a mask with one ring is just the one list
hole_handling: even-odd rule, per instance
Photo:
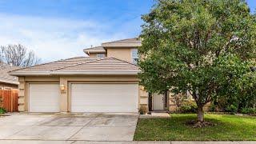
{"label": "large leafy green tree with trunk on the front lawn", "polygon": [[256,21],[245,1],[158,0],[142,19],[141,84],[155,93],[188,90],[198,123],[207,102],[255,84],[241,82],[255,78]]}

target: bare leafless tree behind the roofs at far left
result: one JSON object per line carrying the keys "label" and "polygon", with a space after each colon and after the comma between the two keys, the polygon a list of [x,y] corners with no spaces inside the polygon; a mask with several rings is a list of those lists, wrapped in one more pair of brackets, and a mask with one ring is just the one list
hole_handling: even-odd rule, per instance
{"label": "bare leafless tree behind the roofs at far left", "polygon": [[34,66],[40,62],[33,50],[28,50],[21,44],[0,47],[0,62],[14,66]]}

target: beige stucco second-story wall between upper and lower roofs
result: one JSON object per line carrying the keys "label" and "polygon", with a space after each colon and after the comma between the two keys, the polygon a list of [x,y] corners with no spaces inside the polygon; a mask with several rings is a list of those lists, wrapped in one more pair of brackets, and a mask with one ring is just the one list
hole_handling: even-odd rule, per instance
{"label": "beige stucco second-story wall between upper and lower roofs", "polygon": [[118,58],[131,62],[131,50],[134,48],[107,48],[107,57]]}

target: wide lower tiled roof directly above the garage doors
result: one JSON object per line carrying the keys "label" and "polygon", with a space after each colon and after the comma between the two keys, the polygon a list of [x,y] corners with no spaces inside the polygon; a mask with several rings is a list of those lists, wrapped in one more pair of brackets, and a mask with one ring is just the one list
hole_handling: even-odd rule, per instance
{"label": "wide lower tiled roof directly above the garage doors", "polygon": [[21,70],[12,75],[69,75],[69,74],[138,74],[138,66],[117,58],[77,57],[49,62]]}

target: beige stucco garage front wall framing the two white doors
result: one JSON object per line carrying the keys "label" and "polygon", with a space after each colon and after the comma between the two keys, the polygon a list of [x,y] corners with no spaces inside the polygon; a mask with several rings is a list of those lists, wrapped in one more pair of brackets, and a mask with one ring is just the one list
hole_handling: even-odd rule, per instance
{"label": "beige stucco garage front wall framing the two white doors", "polygon": [[[50,76],[50,77],[19,77],[20,85],[19,89],[19,98],[18,98],[18,110],[19,111],[28,111],[28,90],[30,83],[50,83],[58,82],[59,85],[64,85],[65,90],[61,91],[60,94],[60,110],[61,112],[70,111],[70,83],[71,82],[104,82],[104,83],[138,83],[138,76],[136,75],[88,75],[88,76]],[[145,90],[142,89],[142,86],[139,86],[138,91],[138,103],[139,108],[141,106],[147,106],[147,96]]]}

